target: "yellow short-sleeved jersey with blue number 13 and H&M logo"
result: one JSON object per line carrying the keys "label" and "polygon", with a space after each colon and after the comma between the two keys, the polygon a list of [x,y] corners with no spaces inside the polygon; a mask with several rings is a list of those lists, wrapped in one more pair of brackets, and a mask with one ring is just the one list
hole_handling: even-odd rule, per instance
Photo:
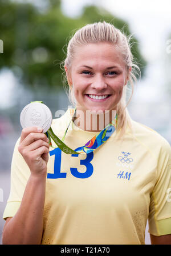
{"label": "yellow short-sleeved jersey with blue number 13 and H&M logo", "polygon": [[[62,139],[73,111],[53,119]],[[68,155],[50,147],[42,244],[144,244],[149,233],[171,234],[171,147],[156,131],[133,121],[122,139],[115,133],[95,151]],[[64,143],[78,149],[96,133],[71,122]],[[52,142],[52,146],[55,146]],[[15,145],[11,189],[3,218],[21,204],[30,170]]]}

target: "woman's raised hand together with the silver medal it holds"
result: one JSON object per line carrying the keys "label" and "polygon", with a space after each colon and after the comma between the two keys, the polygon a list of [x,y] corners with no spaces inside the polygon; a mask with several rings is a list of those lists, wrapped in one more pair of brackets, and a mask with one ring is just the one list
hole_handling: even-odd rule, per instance
{"label": "woman's raised hand together with the silver medal it holds", "polygon": [[18,151],[25,159],[32,174],[46,177],[49,140],[46,131],[52,123],[52,114],[48,107],[33,102],[24,107],[20,116],[23,127]]}

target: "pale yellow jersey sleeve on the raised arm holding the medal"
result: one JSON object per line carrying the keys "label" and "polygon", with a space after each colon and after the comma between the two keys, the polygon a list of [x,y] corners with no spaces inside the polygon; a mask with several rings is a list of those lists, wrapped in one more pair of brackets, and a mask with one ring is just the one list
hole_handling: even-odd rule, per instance
{"label": "pale yellow jersey sleeve on the raised arm holding the medal", "polygon": [[20,138],[15,143],[11,161],[10,195],[3,212],[3,219],[13,217],[15,213],[17,213],[28,178],[30,177],[30,169],[25,162],[25,159],[18,151],[19,141]]}

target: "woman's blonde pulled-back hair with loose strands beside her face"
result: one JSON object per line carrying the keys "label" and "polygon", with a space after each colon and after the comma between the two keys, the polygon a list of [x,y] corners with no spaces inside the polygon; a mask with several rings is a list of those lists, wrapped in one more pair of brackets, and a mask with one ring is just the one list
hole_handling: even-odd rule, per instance
{"label": "woman's blonde pulled-back hair with loose strands beside her face", "polygon": [[[72,59],[75,56],[77,47],[87,45],[88,43],[109,42],[112,43],[113,46],[115,46],[115,48],[120,51],[120,53],[123,56],[125,68],[127,69],[127,73],[129,74],[128,82],[132,87],[132,94],[131,97],[129,98],[129,101],[126,104],[127,91],[129,91],[129,88],[127,85],[125,85],[123,89],[123,95],[120,99],[120,102],[117,104],[117,113],[119,115],[119,118],[117,122],[116,132],[117,134],[119,133],[119,138],[123,137],[127,124],[129,125],[129,127],[132,128],[131,119],[129,117],[127,106],[131,101],[133,95],[134,82],[137,81],[136,70],[139,70],[141,74],[139,66],[137,66],[136,63],[133,63],[133,55],[131,53],[130,43],[131,37],[132,35],[127,37],[127,35],[121,32],[121,30],[117,29],[111,23],[107,23],[105,21],[88,24],[82,27],[81,29],[77,30],[76,33],[71,37],[67,47],[66,59],[64,59],[64,61],[62,62],[62,64],[67,67],[68,73],[70,73]],[[131,71],[129,70],[130,67]],[[72,94],[70,86],[69,91],[67,90],[67,87],[65,87],[65,89],[71,103],[75,105],[76,101],[74,95]]]}

